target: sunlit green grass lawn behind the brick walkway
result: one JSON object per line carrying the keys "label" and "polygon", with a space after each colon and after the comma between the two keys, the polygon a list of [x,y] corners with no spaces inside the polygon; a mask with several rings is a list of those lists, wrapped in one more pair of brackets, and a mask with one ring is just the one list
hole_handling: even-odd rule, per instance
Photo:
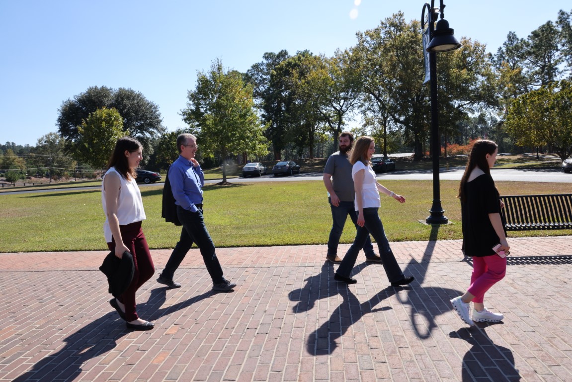
{"label": "sunlit green grass lawn behind the brick walkway", "polygon": [[[390,241],[426,241],[431,226],[423,225],[432,203],[431,180],[382,180],[406,196],[399,204],[382,195],[380,216]],[[441,198],[451,224],[436,230],[438,239],[460,239],[456,192],[459,182],[442,180]],[[503,195],[570,192],[568,183],[497,182]],[[161,218],[162,185],[142,191],[149,246],[172,248],[180,227]],[[331,212],[322,182],[261,182],[204,187],[206,226],[217,247],[325,244]],[[105,250],[104,212],[99,190],[0,196],[0,252]],[[433,232],[435,234],[435,232]],[[569,235],[572,230],[529,231],[510,236]],[[348,220],[341,237],[351,243],[355,229]]]}

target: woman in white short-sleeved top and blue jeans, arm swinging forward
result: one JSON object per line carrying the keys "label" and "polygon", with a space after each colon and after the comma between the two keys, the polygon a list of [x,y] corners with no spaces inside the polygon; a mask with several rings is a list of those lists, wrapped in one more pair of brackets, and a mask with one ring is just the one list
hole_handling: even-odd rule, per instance
{"label": "woman in white short-sleeved top and blue jeans, arm swinging forward", "polygon": [[407,285],[414,280],[413,277],[406,277],[397,263],[391,251],[390,243],[387,241],[386,233],[383,230],[382,220],[379,218],[378,210],[381,206],[379,192],[391,196],[399,203],[405,203],[405,198],[395,194],[379,184],[375,178],[375,172],[371,168],[371,156],[375,152],[375,142],[372,137],[363,136],[356,140],[349,162],[352,167],[352,178],[355,187],[355,210],[358,211],[358,233],[349,247],[340,267],[337,269],[335,279],[348,284],[355,284],[356,279],[351,277],[353,266],[355,265],[358,253],[362,249],[368,235],[372,235],[378,243],[379,256],[382,258],[383,268],[392,286]]}

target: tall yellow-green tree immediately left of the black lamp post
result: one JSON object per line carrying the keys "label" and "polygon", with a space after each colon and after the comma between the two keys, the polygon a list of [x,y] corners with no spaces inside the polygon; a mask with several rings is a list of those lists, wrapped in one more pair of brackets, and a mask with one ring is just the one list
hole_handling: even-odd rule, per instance
{"label": "tall yellow-green tree immediately left of the black lamp post", "polygon": [[[362,107],[387,129],[391,116],[414,148],[414,159],[424,155],[430,131],[428,87],[423,86],[420,23],[406,23],[402,12],[386,18],[375,29],[358,33],[355,53],[363,57]],[[386,123],[383,121],[386,120]]]}

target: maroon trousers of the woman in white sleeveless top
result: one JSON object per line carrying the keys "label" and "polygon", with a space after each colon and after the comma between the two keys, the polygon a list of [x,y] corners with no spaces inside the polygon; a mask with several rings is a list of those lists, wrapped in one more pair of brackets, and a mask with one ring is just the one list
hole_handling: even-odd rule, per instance
{"label": "maroon trousers of the woman in white sleeveless top", "polygon": [[[149,252],[147,240],[141,230],[141,222],[131,223],[125,226],[119,226],[121,232],[121,239],[129,252],[133,255],[133,264],[135,265],[135,272],[133,274],[133,281],[130,283],[129,288],[118,298],[122,304],[125,305],[125,320],[135,321],[137,316],[135,293],[141,285],[151,278],[155,273],[155,266],[153,259]],[[110,251],[115,250],[115,239],[108,243]]]}

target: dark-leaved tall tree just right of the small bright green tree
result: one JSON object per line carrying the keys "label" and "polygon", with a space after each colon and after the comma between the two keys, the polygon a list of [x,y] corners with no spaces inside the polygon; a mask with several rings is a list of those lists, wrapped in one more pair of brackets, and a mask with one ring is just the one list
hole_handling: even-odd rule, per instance
{"label": "dark-leaved tall tree just right of the small bright green tree", "polygon": [[259,100],[261,117],[267,125],[265,136],[272,142],[274,159],[279,160],[286,145],[285,132],[288,124],[288,110],[291,99],[284,93],[285,78],[276,72],[276,68],[289,58],[286,50],[278,53],[264,53],[263,60],[251,66],[246,81],[253,86],[253,95]]}

